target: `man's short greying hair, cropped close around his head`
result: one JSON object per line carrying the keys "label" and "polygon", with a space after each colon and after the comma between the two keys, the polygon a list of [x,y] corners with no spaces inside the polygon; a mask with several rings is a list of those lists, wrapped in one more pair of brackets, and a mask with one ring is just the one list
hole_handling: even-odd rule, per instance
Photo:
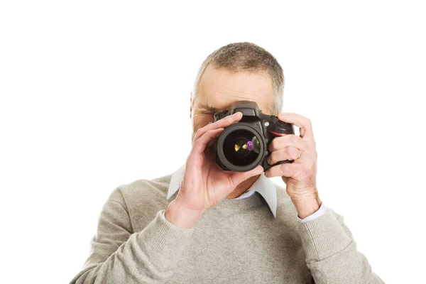
{"label": "man's short greying hair, cropped close around his head", "polygon": [[192,90],[192,104],[197,96],[198,85],[201,77],[209,64],[214,67],[223,67],[231,71],[266,71],[271,76],[275,93],[275,102],[271,105],[273,114],[278,115],[283,107],[284,72],[271,53],[254,43],[229,43],[222,48],[214,50],[202,62]]}

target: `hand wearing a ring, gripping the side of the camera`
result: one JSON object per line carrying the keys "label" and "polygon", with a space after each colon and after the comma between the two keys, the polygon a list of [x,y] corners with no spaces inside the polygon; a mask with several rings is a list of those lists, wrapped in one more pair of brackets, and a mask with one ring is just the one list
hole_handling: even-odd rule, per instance
{"label": "hand wearing a ring, gripping the side of the camera", "polygon": [[[301,219],[316,212],[321,206],[317,191],[317,150],[310,119],[294,113],[278,114],[280,121],[300,128],[300,136],[285,134],[273,138],[269,145],[268,163],[295,160],[293,163],[274,165],[265,175],[280,176],[287,185],[286,190]],[[299,158],[297,158],[299,157]]]}

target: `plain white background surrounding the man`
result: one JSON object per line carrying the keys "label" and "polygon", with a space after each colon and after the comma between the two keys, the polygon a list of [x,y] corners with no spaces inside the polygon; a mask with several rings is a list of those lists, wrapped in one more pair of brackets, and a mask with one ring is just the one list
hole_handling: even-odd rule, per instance
{"label": "plain white background surrounding the man", "polygon": [[283,66],[283,111],[314,127],[320,198],[373,271],[424,280],[421,1],[177,2],[1,2],[2,282],[80,271],[111,191],[184,163],[197,70],[239,41]]}

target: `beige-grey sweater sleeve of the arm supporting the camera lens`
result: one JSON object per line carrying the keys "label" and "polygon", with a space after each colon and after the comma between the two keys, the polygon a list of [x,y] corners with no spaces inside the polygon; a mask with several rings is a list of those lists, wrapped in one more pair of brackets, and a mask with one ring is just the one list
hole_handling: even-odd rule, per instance
{"label": "beige-grey sweater sleeve of the arm supporting the camera lens", "polygon": [[159,210],[142,230],[133,232],[119,187],[102,207],[87,261],[70,283],[164,283],[175,271],[193,233],[163,217]]}

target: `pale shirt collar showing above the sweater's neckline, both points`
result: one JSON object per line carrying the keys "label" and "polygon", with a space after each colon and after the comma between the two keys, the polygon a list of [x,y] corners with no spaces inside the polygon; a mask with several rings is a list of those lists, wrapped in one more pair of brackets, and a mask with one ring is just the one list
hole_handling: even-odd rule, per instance
{"label": "pale shirt collar showing above the sweater's neckline, both points", "polygon": [[[184,173],[185,165],[182,165],[178,170],[175,171],[175,173],[173,173],[168,188],[167,199],[170,199],[170,197],[172,197],[179,190]],[[268,203],[269,209],[271,209],[273,217],[276,218],[277,189],[275,187],[275,183],[266,178],[266,176],[263,174],[261,174],[261,176],[256,180],[256,182],[251,185],[249,190],[244,192],[239,197],[234,198],[234,200],[241,200],[245,197],[249,197],[255,191],[259,192],[263,196],[263,198],[266,200],[266,203]]]}

